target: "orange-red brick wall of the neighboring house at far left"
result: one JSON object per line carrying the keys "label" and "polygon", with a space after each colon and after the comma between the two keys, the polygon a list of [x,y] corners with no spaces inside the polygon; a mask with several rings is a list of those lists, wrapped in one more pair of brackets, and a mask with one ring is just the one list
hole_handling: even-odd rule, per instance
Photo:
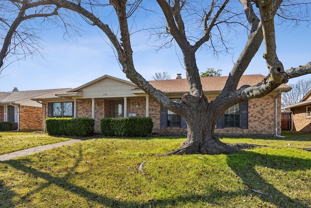
{"label": "orange-red brick wall of the neighboring house at far left", "polygon": [[19,130],[43,130],[42,108],[19,106]]}

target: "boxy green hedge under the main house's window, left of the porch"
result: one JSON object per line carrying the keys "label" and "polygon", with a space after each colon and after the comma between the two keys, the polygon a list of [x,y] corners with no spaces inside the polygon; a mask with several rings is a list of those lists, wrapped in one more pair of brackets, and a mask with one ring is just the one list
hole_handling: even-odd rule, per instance
{"label": "boxy green hedge under the main house's window, left of the porch", "polygon": [[92,118],[47,118],[46,131],[51,135],[87,136],[94,132]]}

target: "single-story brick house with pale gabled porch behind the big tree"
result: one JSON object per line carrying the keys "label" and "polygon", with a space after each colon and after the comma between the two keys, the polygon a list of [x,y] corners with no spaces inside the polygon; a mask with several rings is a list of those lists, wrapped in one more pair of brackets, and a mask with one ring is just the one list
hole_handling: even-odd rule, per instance
{"label": "single-story brick house with pale gabled porch behind the big tree", "polygon": [[[242,76],[238,87],[245,84],[256,85],[263,78],[261,75]],[[215,99],[221,93],[226,79],[226,76],[201,78],[208,100]],[[187,80],[180,76],[149,82],[177,102],[185,93],[189,93]],[[232,135],[280,134],[281,92],[289,90],[290,86],[282,84],[269,95],[232,106],[219,119],[215,132]],[[128,116],[151,117],[154,122],[153,132],[187,132],[187,124],[182,117],[161,107],[133,82],[108,75],[78,88],[56,95],[37,96],[33,100],[43,103],[43,120],[47,117],[91,117],[95,119],[95,132],[100,132],[100,120],[104,117]]]}

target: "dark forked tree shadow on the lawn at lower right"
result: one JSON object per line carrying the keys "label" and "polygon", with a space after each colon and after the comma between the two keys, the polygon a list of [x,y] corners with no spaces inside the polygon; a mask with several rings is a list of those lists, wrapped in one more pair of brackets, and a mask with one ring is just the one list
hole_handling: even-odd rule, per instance
{"label": "dark forked tree shadow on the lawn at lower right", "polygon": [[[262,195],[260,199],[270,202],[278,208],[309,208],[307,202],[292,199],[276,189],[274,185],[269,184],[269,182],[260,175],[264,175],[264,173],[259,173],[255,170],[255,167],[261,166],[283,171],[310,170],[310,159],[260,154],[253,151],[241,151],[237,154],[229,154],[227,157],[228,166],[242,179],[245,188],[249,188],[249,193],[253,195],[257,194],[251,189],[262,190],[269,193],[273,198]],[[276,177],[276,175],[273,176],[273,178]],[[310,203],[311,202],[309,202],[309,204]]]}

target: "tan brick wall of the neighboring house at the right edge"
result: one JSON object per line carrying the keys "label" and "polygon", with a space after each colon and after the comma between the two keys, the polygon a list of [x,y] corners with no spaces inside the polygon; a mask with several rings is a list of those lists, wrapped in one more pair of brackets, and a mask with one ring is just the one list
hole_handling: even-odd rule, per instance
{"label": "tan brick wall of the neighboring house at the right edge", "polygon": [[292,109],[294,130],[298,132],[311,132],[311,118],[306,117],[306,106]]}

